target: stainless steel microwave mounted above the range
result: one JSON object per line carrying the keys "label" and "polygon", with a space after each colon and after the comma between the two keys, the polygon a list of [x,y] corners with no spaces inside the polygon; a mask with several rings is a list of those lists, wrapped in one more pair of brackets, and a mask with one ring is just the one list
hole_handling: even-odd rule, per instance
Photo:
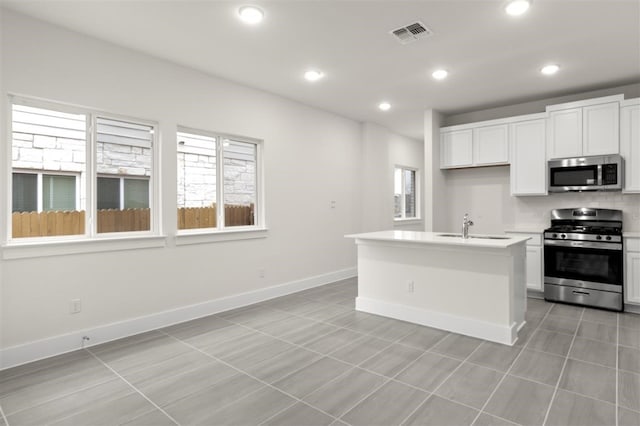
{"label": "stainless steel microwave mounted above the range", "polygon": [[561,158],[548,164],[549,192],[622,190],[619,155]]}

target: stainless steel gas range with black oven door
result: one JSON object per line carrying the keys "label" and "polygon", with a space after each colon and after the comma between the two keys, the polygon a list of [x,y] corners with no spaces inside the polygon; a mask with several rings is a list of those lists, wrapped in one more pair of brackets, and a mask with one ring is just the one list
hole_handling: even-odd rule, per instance
{"label": "stainless steel gas range with black oven door", "polygon": [[544,231],[544,298],[614,311],[623,304],[622,211],[551,211]]}

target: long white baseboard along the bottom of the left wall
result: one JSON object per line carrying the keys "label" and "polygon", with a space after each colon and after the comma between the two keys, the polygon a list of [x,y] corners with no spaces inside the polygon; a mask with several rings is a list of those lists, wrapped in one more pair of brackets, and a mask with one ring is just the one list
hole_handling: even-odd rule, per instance
{"label": "long white baseboard along the bottom of the left wall", "polygon": [[144,317],[126,319],[91,329],[78,330],[23,345],[8,347],[0,350],[0,370],[81,349],[83,347],[84,336],[90,339],[85,343],[84,347],[95,346],[123,337],[133,336],[138,333],[167,327],[195,318],[224,312],[229,309],[240,308],[335,281],[352,278],[356,275],[357,268],[355,267],[342,269],[272,287],[209,300],[195,305],[158,312]]}

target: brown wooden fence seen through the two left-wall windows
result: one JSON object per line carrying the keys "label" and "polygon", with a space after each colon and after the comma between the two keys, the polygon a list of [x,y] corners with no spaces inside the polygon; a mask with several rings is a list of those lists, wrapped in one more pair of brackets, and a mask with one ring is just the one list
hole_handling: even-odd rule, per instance
{"label": "brown wooden fence seen through the two left-wall windows", "polygon": [[[254,205],[225,206],[226,226],[253,225]],[[84,211],[16,212],[12,214],[13,238],[84,234]],[[216,206],[178,209],[178,229],[216,227]],[[98,210],[98,232],[131,232],[151,229],[150,209]]]}

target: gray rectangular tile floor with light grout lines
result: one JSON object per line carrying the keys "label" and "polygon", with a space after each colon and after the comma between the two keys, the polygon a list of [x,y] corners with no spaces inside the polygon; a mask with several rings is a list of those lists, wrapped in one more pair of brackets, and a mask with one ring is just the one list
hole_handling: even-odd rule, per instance
{"label": "gray rectangular tile floor with light grout lines", "polygon": [[0,372],[5,425],[640,425],[640,315],[529,299],[508,347],[355,279]]}

